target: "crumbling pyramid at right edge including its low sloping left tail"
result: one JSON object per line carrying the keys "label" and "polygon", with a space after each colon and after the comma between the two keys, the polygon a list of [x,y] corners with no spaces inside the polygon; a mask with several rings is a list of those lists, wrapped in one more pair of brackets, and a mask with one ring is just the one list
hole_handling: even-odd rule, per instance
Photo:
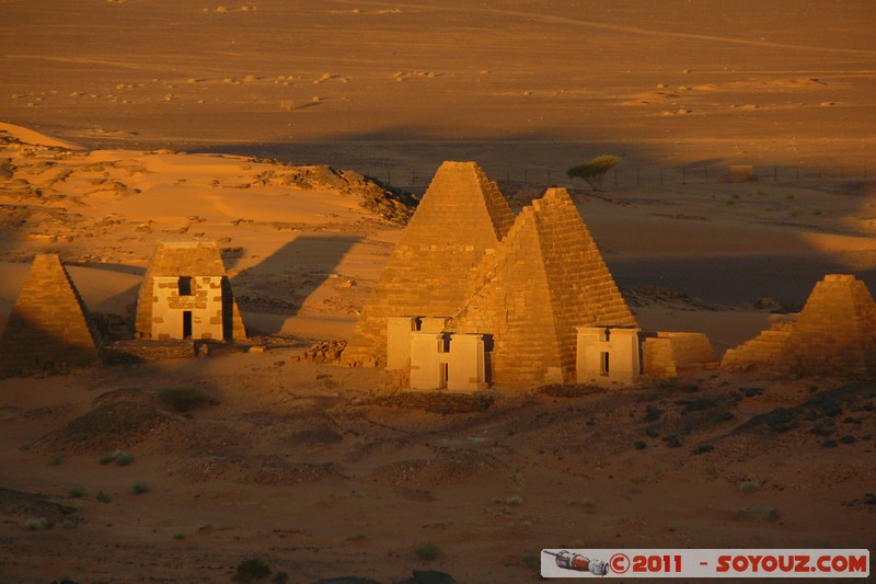
{"label": "crumbling pyramid at right edge including its low sloping left tail", "polygon": [[831,377],[876,375],[876,302],[854,276],[827,275],[796,321],[773,325],[727,351],[722,366]]}

